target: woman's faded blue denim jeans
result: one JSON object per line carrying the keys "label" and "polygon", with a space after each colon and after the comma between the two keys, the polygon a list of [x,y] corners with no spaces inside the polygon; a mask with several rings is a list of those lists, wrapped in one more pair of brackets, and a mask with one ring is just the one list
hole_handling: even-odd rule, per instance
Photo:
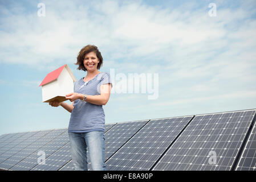
{"label": "woman's faded blue denim jeans", "polygon": [[95,171],[105,171],[105,137],[102,131],[88,133],[68,133],[74,168],[77,171],[87,171],[87,148],[91,167]]}

